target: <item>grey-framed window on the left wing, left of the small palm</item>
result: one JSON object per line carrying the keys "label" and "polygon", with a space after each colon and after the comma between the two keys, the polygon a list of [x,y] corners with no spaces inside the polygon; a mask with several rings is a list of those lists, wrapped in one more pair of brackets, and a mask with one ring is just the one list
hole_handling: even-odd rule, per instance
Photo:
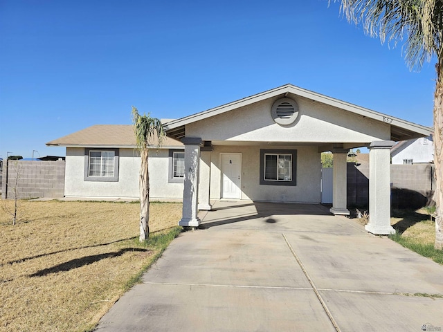
{"label": "grey-framed window on the left wing, left of the small palm", "polygon": [[118,181],[118,149],[84,149],[84,181]]}

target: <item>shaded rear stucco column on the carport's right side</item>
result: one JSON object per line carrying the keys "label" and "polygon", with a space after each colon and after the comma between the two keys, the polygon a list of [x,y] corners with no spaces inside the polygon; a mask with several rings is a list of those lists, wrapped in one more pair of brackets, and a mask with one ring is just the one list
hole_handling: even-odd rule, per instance
{"label": "shaded rear stucco column on the carport's right side", "polygon": [[346,158],[349,149],[334,149],[334,167],[332,171],[332,208],[333,214],[349,215],[347,210],[347,165]]}

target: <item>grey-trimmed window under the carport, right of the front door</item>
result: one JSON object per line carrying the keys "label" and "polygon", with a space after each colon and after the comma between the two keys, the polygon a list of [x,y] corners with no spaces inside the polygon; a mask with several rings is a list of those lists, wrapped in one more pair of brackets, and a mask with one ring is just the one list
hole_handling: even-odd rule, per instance
{"label": "grey-trimmed window under the carport, right of the front door", "polygon": [[260,149],[260,185],[296,185],[297,150]]}

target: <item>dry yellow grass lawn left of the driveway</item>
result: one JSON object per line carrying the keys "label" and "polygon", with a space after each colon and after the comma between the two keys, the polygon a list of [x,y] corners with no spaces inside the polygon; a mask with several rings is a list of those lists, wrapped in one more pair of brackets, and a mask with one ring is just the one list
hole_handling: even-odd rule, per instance
{"label": "dry yellow grass lawn left of the driveway", "polygon": [[[159,252],[138,243],[138,203],[21,201],[17,225],[12,203],[0,201],[0,331],[88,331]],[[180,217],[152,203],[152,234]]]}

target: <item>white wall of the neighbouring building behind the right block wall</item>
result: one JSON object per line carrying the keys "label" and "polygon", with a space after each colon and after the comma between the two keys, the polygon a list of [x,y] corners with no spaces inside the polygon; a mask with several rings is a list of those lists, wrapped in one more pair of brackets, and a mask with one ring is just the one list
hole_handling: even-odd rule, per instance
{"label": "white wall of the neighbouring building behind the right block wall", "polygon": [[427,144],[424,144],[424,138],[411,140],[404,149],[398,151],[392,156],[392,164],[401,165],[404,159],[412,159],[413,163],[429,163],[434,160],[434,144],[431,137],[427,138]]}

